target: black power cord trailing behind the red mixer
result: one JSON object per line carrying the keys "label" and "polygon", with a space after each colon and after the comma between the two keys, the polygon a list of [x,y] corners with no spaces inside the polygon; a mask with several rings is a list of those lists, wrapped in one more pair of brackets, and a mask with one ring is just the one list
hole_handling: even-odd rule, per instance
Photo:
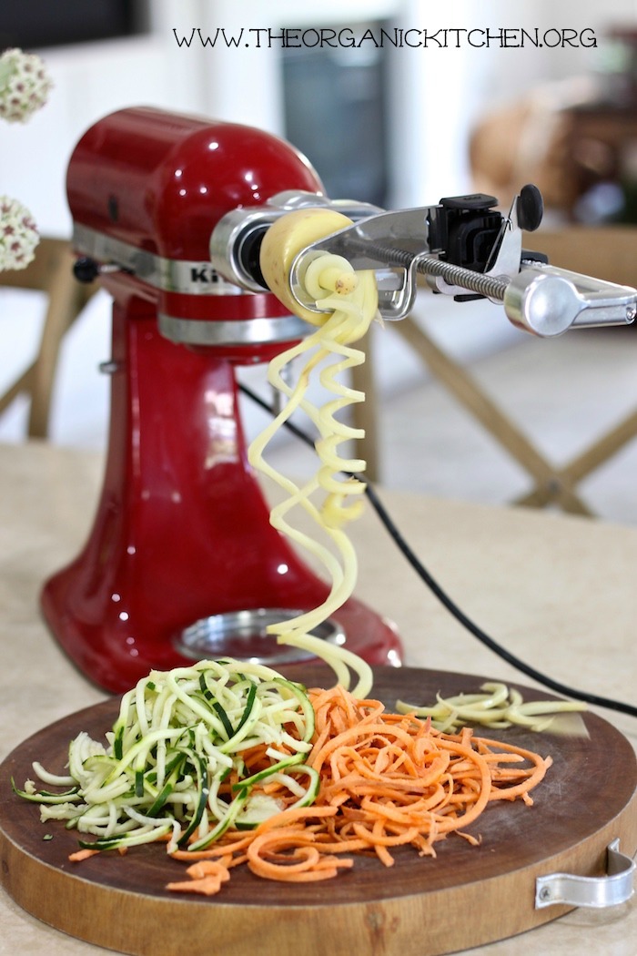
{"label": "black power cord trailing behind the red mixer", "polygon": [[[248,388],[247,385],[240,384],[240,390],[247,396],[252,402],[258,404],[270,415],[275,415],[274,409],[265,402],[261,396],[257,395],[256,392],[252,391],[251,388]],[[297,425],[292,422],[284,423],[287,427],[287,430],[290,431],[297,438],[301,439],[302,442],[305,442],[306,445],[314,446],[314,442],[310,435],[305,432],[302,428],[299,428]],[[503,661],[510,663],[516,670],[519,670],[520,673],[525,674],[526,677],[530,677],[532,680],[537,681],[538,684],[543,684],[543,686],[548,687],[550,690],[555,690],[559,694],[563,694],[565,697],[573,697],[576,700],[584,701],[586,704],[593,704],[595,706],[605,707],[607,710],[617,710],[620,713],[628,714],[630,717],[637,717],[637,706],[631,704],[625,704],[622,701],[614,701],[606,697],[600,697],[597,694],[590,694],[584,690],[575,690],[573,687],[569,687],[567,684],[561,684],[559,681],[554,681],[552,678],[547,677],[545,674],[542,674],[541,671],[536,670],[535,667],[532,667],[530,664],[520,661],[520,658],[516,657],[514,654],[511,654],[510,651],[507,651],[505,647],[502,647],[498,641],[494,641],[493,638],[489,637],[472,619],[468,618],[463,611],[457,606],[457,603],[449,597],[449,595],[440,587],[435,578],[427,571],[423,563],[417,554],[414,554],[413,549],[407,543],[401,532],[396,528],[393,523],[393,519],[385,509],[384,505],[380,501],[375,490],[372,488],[372,485],[369,483],[366,486],[365,493],[369,498],[373,510],[378,515],[381,523],[385,527],[386,531],[389,532],[391,538],[393,539],[394,544],[398,550],[403,554],[407,559],[409,564],[414,569],[415,573],[421,578],[422,581],[427,585],[427,587],[432,591],[435,597],[438,598],[440,603],[449,611],[457,621],[462,624],[475,638],[478,639],[485,647],[488,647],[489,650],[497,654]]]}

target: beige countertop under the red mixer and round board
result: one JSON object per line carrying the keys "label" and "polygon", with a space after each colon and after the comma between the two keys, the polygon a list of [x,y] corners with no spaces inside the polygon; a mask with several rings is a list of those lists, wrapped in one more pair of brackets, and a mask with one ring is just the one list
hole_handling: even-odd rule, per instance
{"label": "beige countertop under the red mixer and round board", "polygon": [[[50,637],[38,610],[44,579],[89,531],[99,456],[49,445],[0,446],[0,759],[36,730],[105,695]],[[552,678],[632,704],[637,530],[563,515],[382,495],[425,565],[463,611]],[[358,597],[393,619],[405,663],[532,684],[466,632],[418,580],[368,509],[352,538]],[[637,721],[600,709],[637,747]],[[0,953],[105,952],[32,919],[0,891]],[[635,899],[565,917],[472,956],[635,956]],[[362,954],[361,954],[362,956]]]}

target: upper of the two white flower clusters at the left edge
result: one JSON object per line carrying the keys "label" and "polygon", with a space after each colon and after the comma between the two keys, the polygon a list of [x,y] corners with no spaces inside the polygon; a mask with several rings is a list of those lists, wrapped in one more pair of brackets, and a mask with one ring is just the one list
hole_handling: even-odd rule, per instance
{"label": "upper of the two white flower clusters at the left edge", "polygon": [[26,122],[47,101],[53,81],[37,54],[13,48],[0,56],[0,118]]}

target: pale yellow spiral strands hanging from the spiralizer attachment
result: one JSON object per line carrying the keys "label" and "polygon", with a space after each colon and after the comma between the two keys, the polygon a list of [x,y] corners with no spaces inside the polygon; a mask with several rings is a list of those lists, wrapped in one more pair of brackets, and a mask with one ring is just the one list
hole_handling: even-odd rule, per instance
{"label": "pale yellow spiral strands hanging from the spiralizer attachment", "polygon": [[[331,587],[328,597],[318,607],[268,627],[277,641],[302,647],[329,663],[338,683],[350,686],[349,667],[358,675],[352,693],[366,697],[372,688],[369,665],[343,647],[332,647],[310,632],[337,611],[351,596],[357,575],[356,553],[344,526],[357,518],[363,508],[365,483],[356,477],[365,469],[358,458],[344,457],[339,446],[363,437],[362,429],[339,420],[336,416],[354,402],[363,402],[362,392],[351,388],[343,377],[365,361],[364,352],[352,343],[368,331],[377,311],[377,293],[373,272],[353,272],[340,256],[324,254],[309,266],[305,276],[306,290],[322,310],[330,310],[325,322],[309,337],[272,359],[268,381],[287,399],[285,406],[248,449],[248,461],[287,493],[287,499],[270,512],[274,528],[306,549],[326,569]],[[337,292],[335,290],[344,290]],[[285,370],[293,359],[305,359],[296,383],[287,383]],[[333,396],[321,407],[308,399],[312,376]],[[278,429],[301,409],[316,426],[315,443],[319,460],[316,473],[303,485],[296,485],[265,460],[265,449]],[[343,478],[342,472],[350,477]],[[323,495],[317,503],[314,498]],[[327,543],[316,540],[295,527],[290,511],[301,508],[312,519]]]}

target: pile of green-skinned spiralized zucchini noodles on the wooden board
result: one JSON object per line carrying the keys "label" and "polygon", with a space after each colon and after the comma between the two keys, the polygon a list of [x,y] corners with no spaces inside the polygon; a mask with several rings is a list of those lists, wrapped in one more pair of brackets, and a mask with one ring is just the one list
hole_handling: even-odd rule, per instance
{"label": "pile of green-skinned spiralized zucchini noodles on the wooden board", "polygon": [[[305,689],[261,664],[202,661],[152,671],[124,694],[107,746],[81,731],[68,775],[33,764],[50,792],[27,781],[15,793],[40,804],[42,821],[95,836],[93,853],[165,839],[168,852],[202,850],[231,827],[305,807],[318,774],[305,764],[314,711]],[[268,796],[267,790],[279,793]]]}

